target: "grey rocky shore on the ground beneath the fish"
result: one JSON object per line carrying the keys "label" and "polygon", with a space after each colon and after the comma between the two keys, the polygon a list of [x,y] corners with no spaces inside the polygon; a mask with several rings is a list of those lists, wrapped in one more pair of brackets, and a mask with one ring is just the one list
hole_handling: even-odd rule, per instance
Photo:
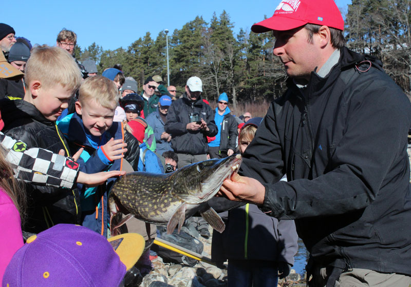
{"label": "grey rocky shore on the ground beneath the fish", "polygon": [[[212,234],[212,231],[210,230]],[[211,257],[211,237],[198,237],[203,245],[203,256]],[[164,263],[161,257],[152,261],[153,270],[143,277],[141,287],[225,287],[227,286],[227,264],[218,268],[198,261],[193,267],[184,264]],[[304,278],[291,271],[290,275],[278,282],[281,287],[303,287]]]}

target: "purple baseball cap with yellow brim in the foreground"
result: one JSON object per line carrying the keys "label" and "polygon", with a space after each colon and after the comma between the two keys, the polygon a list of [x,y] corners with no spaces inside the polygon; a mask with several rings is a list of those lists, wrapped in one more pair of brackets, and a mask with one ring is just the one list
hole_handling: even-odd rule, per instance
{"label": "purple baseball cap with yellow brim in the foreground", "polygon": [[13,256],[3,286],[113,286],[144,249],[136,233],[108,240],[87,227],[58,224],[27,239]]}

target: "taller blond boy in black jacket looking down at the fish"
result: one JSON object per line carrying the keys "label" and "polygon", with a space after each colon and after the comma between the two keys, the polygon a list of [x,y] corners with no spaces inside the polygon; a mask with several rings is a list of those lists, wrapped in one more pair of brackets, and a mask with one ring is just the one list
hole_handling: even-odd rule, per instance
{"label": "taller blond boy in black jacket looking down at the fish", "polygon": [[[80,83],[80,70],[70,54],[58,47],[35,47],[27,61],[24,99],[4,99],[0,104],[4,133],[20,139],[29,148],[41,147],[55,153],[64,149],[70,156],[55,120],[67,108]],[[25,231],[39,233],[58,223],[80,222],[76,189],[32,184],[26,190],[29,208]]]}

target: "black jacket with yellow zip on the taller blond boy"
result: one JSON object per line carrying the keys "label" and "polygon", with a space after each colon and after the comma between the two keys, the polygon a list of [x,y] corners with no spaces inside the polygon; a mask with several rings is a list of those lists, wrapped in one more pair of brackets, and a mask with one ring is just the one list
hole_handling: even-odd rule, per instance
{"label": "black jacket with yellow zip on the taller blond boy", "polygon": [[[41,147],[58,153],[68,150],[57,125],[43,117],[38,109],[24,100],[0,101],[5,135],[20,139],[27,147]],[[28,217],[24,230],[44,231],[58,223],[80,223],[80,200],[77,189],[56,188],[28,184]]]}

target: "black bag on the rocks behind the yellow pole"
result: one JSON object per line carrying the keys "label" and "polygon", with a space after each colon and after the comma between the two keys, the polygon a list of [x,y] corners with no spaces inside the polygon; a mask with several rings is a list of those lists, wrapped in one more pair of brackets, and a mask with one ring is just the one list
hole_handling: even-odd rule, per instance
{"label": "black bag on the rocks behind the yellow pole", "polygon": [[[180,231],[180,234],[178,234],[177,229],[175,229],[172,234],[167,234],[166,226],[161,225],[157,225],[157,232],[160,233],[160,238],[163,240],[174,243],[198,254],[201,254],[203,251],[202,242],[188,233]],[[190,266],[194,266],[197,263],[197,260],[191,257],[171,251],[156,244],[154,244],[151,249],[157,252],[158,256],[163,259],[164,263],[183,263]]]}

